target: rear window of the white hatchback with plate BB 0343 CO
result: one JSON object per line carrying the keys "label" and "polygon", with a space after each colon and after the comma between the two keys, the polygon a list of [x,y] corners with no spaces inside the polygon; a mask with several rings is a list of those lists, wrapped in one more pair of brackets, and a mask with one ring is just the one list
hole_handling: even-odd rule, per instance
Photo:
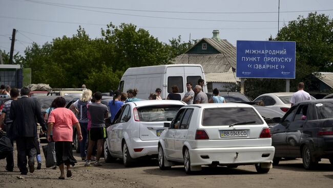
{"label": "rear window of the white hatchback with plate BB 0343 CO", "polygon": [[206,108],[203,110],[203,126],[231,125],[240,122],[254,122],[248,123],[251,125],[263,124],[259,115],[253,108],[230,107]]}

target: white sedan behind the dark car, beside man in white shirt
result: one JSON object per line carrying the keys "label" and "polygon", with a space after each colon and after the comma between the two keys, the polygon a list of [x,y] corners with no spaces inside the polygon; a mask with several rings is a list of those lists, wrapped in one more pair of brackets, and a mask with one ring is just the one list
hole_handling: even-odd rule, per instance
{"label": "white sedan behind the dark car, beside man in white shirt", "polygon": [[[292,98],[293,94],[294,92],[265,93],[257,97],[253,102],[258,103],[259,101],[262,101],[264,106],[285,113],[292,106],[290,99]],[[311,96],[311,100],[315,99],[316,98]]]}

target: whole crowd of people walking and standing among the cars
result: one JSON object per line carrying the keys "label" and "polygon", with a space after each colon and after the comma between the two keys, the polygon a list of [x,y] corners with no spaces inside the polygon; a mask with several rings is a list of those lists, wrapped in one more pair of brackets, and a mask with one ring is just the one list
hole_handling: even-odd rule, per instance
{"label": "whole crowd of people walking and standing among the cars", "polygon": [[[199,79],[194,90],[191,82],[186,83],[186,92],[183,98],[178,93],[179,88],[176,85],[171,87],[171,92],[166,100],[181,100],[186,104],[202,103],[225,103],[225,99],[219,96],[219,90],[213,89],[213,96],[208,97],[202,90],[204,80]],[[83,87],[83,85],[82,85]],[[139,101],[136,98],[138,90],[136,88],[127,90],[126,93],[118,90],[113,92],[113,100],[109,101],[108,106],[101,103],[102,93],[97,91],[92,93],[90,89],[82,92],[82,97],[75,101],[69,109],[66,106],[66,100],[63,97],[57,97],[51,106],[46,110],[45,116],[41,115],[39,103],[29,98],[30,89],[23,87],[20,90],[21,98],[17,100],[19,91],[16,88],[1,85],[0,95],[10,95],[11,99],[4,103],[2,115],[0,118],[1,129],[7,131],[7,137],[13,147],[13,141],[16,140],[17,149],[17,167],[22,175],[28,171],[33,173],[35,170],[35,160],[37,161],[37,170],[41,168],[41,156],[39,149],[39,134],[47,133],[49,143],[55,143],[56,160],[53,169],[59,167],[60,176],[58,179],[71,177],[70,166],[77,162],[72,153],[73,126],[77,129],[77,136],[80,144],[81,159],[86,161],[85,166],[102,166],[99,162],[103,140],[107,137],[105,119],[108,118],[109,110],[111,121],[115,118],[119,109],[128,102]],[[304,90],[304,83],[298,84],[298,92],[295,92],[290,102],[293,104],[311,100],[309,94]],[[162,100],[162,90],[156,88],[151,93],[149,100]],[[263,104],[261,104],[263,105]],[[88,141],[88,149],[86,143]],[[6,157],[6,170],[13,171],[14,157],[13,151]],[[28,165],[28,168],[27,168]]]}

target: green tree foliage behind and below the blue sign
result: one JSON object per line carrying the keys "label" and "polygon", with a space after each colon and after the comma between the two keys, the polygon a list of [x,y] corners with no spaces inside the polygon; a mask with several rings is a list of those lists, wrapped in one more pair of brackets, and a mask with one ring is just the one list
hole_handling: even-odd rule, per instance
{"label": "green tree foliage behind and below the blue sign", "polygon": [[[272,36],[271,36],[272,38]],[[324,14],[299,16],[280,29],[278,41],[296,41],[296,78],[290,79],[290,91],[304,82],[313,83],[313,73],[333,72],[333,19]],[[251,98],[267,92],[285,91],[285,79],[246,79],[245,94]]]}

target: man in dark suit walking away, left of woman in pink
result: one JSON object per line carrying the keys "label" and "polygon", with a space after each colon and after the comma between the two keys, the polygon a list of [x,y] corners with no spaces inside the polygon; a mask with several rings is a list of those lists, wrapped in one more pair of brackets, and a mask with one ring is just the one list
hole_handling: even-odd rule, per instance
{"label": "man in dark suit walking away, left of woman in pink", "polygon": [[9,137],[16,139],[17,148],[17,167],[22,175],[28,173],[27,156],[29,172],[35,170],[34,159],[36,154],[40,153],[37,145],[37,122],[43,131],[46,132],[45,122],[40,112],[39,103],[29,98],[30,89],[23,87],[21,89],[21,98],[13,101],[10,107],[10,119],[13,120],[9,129]]}

